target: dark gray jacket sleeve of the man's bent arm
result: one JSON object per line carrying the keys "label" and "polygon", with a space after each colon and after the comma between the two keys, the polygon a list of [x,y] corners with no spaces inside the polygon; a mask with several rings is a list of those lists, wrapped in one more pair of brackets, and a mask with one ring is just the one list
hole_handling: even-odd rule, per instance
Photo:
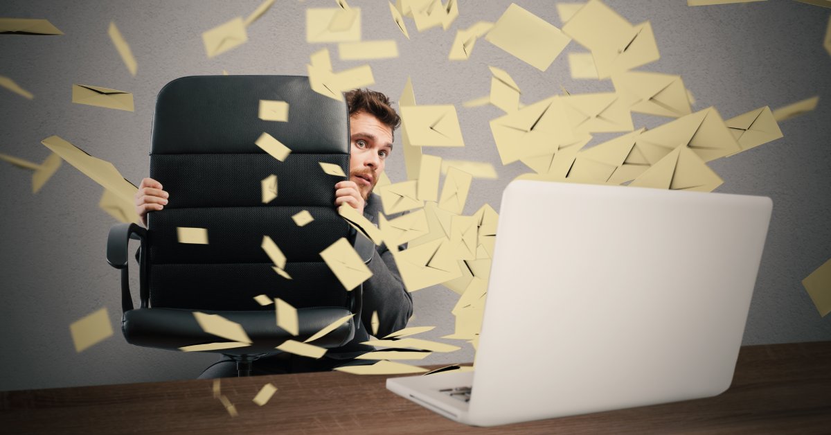
{"label": "dark gray jacket sleeve of the man's bent arm", "polygon": [[[400,249],[405,249],[405,246]],[[404,288],[396,262],[386,245],[377,247],[376,255],[366,265],[372,277],[363,285],[361,321],[371,333],[372,313],[377,311],[379,324],[375,335],[382,338],[406,327],[413,312],[413,300]]]}

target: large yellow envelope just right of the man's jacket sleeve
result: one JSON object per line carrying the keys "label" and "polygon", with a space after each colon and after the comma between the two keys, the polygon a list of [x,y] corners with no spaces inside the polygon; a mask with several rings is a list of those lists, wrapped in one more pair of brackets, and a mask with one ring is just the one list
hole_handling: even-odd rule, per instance
{"label": "large yellow envelope just right of the man's jacket sleeve", "polygon": [[393,252],[392,256],[409,292],[461,276],[459,264],[450,250],[450,240],[446,238],[410,246],[407,250]]}

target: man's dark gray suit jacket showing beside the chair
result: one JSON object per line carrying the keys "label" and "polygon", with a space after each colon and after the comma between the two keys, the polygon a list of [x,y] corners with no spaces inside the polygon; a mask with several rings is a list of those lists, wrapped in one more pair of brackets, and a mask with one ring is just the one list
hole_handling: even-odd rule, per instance
{"label": "man's dark gray suit jacket showing beside the chair", "polygon": [[[377,225],[379,211],[381,211],[381,197],[372,194],[364,206],[364,216]],[[389,216],[390,219],[395,217],[397,215]],[[400,250],[405,248],[404,245],[399,247]],[[325,355],[327,358],[354,358],[358,354],[375,350],[371,346],[361,344],[369,340],[372,313],[378,312],[377,337],[379,338],[405,328],[407,319],[410,319],[412,315],[412,296],[404,288],[396,262],[392,259],[392,253],[386,245],[376,246],[376,253],[367,266],[372,272],[372,277],[363,283],[363,309],[355,338],[340,348],[329,349]]]}

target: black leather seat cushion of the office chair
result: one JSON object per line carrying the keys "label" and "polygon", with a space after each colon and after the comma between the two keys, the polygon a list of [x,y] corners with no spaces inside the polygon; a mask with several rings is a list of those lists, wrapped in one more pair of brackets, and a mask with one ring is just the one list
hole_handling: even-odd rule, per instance
{"label": "black leather seat cushion of the office chair", "polygon": [[[208,334],[199,327],[194,317],[195,312],[219,314],[242,325],[248,338],[253,342],[242,348],[214,350],[214,353],[242,355],[253,353],[278,353],[275,349],[287,339],[303,341],[317,331],[332,324],[337,319],[352,314],[343,307],[315,307],[297,309],[299,334],[292,335],[277,326],[273,310],[263,311],[212,311],[194,309],[131,309],[121,319],[121,329],[130,344],[150,348],[179,350],[194,344],[221,343],[231,340]],[[336,348],[352,340],[355,331],[355,319],[349,319],[337,329],[315,339],[310,344],[322,348]]]}

